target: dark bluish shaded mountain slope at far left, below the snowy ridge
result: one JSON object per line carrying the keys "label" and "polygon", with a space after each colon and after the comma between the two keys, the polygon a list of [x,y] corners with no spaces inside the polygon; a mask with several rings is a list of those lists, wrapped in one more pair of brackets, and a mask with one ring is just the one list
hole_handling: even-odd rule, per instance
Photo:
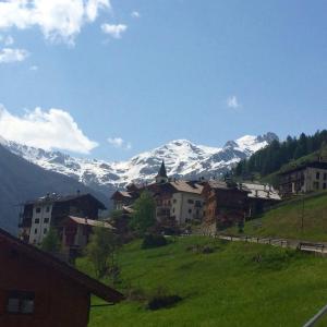
{"label": "dark bluish shaded mountain slope at far left, below the snowy ridge", "polygon": [[47,193],[92,193],[109,204],[109,195],[95,192],[66,175],[47,171],[12,154],[0,145],[0,227],[15,233],[19,223],[19,205]]}

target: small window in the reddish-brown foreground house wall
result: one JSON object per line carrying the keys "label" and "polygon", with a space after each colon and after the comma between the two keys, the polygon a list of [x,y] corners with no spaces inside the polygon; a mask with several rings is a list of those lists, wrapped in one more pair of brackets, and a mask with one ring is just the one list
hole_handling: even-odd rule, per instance
{"label": "small window in the reddish-brown foreground house wall", "polygon": [[34,292],[10,291],[7,299],[7,312],[10,314],[33,314]]}

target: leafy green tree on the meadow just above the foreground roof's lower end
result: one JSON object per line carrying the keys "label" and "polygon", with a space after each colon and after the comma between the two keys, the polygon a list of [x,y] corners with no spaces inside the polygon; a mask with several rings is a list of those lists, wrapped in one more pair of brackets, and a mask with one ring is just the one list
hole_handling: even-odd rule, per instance
{"label": "leafy green tree on the meadow just above the foreground roof's lower end", "polygon": [[85,252],[98,278],[110,275],[114,281],[118,271],[116,264],[118,246],[117,235],[111,229],[105,227],[93,228],[93,234],[86,245]]}

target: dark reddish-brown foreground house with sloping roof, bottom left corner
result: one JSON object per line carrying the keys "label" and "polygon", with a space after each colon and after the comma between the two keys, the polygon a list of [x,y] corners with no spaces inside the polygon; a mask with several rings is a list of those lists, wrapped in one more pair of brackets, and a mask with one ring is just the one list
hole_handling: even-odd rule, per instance
{"label": "dark reddish-brown foreground house with sloping roof, bottom left corner", "polygon": [[[86,327],[90,294],[123,295],[0,229],[0,326]],[[109,308],[108,308],[109,310]]]}

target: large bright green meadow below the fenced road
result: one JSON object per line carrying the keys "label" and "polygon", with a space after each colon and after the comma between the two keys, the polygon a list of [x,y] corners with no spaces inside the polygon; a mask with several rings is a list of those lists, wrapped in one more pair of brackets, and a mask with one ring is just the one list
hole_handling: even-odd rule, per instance
{"label": "large bright green meadow below the fenced road", "polygon": [[[117,288],[150,294],[161,287],[183,300],[158,311],[147,310],[144,301],[93,307],[90,327],[302,326],[327,303],[326,258],[201,237],[153,250],[141,250],[140,244],[121,251],[123,282]],[[195,244],[215,252],[190,251]],[[86,259],[77,265],[93,275]],[[93,299],[96,303],[100,300]]]}

